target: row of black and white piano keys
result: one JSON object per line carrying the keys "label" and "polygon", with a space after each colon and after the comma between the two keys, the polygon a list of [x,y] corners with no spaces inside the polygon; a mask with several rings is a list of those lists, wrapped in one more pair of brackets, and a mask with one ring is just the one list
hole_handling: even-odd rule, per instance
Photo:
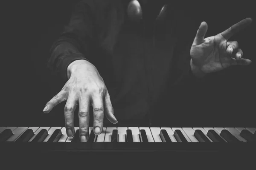
{"label": "row of black and white piano keys", "polygon": [[[87,143],[256,142],[256,127],[104,127]],[[79,127],[68,137],[65,127],[0,127],[0,142],[80,142]],[[84,142],[83,142],[84,143]]]}

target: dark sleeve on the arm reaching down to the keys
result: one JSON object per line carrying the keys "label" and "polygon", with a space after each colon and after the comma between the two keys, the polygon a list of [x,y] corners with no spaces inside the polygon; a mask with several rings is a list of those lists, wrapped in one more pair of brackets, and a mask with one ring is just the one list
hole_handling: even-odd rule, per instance
{"label": "dark sleeve on the arm reaching down to the keys", "polygon": [[78,59],[89,60],[94,37],[94,3],[82,0],[74,6],[69,25],[50,49],[48,67],[67,80],[68,65]]}

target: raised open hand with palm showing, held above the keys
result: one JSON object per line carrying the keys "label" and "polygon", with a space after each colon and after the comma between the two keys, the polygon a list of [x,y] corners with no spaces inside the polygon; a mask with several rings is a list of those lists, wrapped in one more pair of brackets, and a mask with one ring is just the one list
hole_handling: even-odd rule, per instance
{"label": "raised open hand with palm showing, held above the keys", "polygon": [[190,50],[193,73],[204,75],[220,71],[231,65],[249,65],[251,60],[242,58],[243,51],[238,48],[238,42],[230,42],[228,39],[249,26],[251,22],[251,18],[246,18],[226,31],[207,38],[204,38],[207,32],[207,23],[202,22]]}

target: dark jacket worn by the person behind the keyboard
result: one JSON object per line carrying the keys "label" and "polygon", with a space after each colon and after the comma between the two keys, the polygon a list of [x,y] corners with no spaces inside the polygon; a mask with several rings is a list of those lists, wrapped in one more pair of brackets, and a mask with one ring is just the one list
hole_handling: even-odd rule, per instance
{"label": "dark jacket worn by the person behind the keyboard", "polygon": [[134,22],[125,0],[80,1],[52,45],[49,67],[67,80],[67,66],[74,60],[93,63],[119,122],[180,114],[188,83],[196,79],[189,53],[198,26],[171,4],[163,20],[155,20],[164,5],[157,2],[162,1],[142,6],[143,20]]}

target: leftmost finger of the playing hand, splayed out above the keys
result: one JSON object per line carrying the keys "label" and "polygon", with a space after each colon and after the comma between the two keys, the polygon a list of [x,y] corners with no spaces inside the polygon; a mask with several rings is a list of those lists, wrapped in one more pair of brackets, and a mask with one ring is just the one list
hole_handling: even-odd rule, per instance
{"label": "leftmost finger of the playing hand, splayed out above the keys", "polygon": [[67,100],[67,91],[61,90],[56,96],[54,96],[44,107],[43,112],[49,113],[59,103]]}

